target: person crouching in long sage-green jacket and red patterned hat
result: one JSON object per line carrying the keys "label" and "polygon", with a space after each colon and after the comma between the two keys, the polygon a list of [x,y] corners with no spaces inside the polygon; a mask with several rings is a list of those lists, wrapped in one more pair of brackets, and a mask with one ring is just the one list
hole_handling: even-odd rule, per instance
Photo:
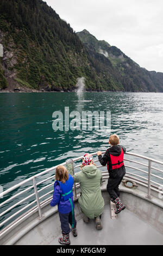
{"label": "person crouching in long sage-green jacket and red patterned hat", "polygon": [[73,176],[74,182],[80,183],[82,194],[79,197],[79,205],[84,214],[83,221],[95,218],[96,229],[102,229],[101,215],[104,209],[104,199],[101,192],[102,173],[93,163],[92,155],[86,153],[83,156],[81,172],[72,172],[72,163],[67,164],[68,172]]}

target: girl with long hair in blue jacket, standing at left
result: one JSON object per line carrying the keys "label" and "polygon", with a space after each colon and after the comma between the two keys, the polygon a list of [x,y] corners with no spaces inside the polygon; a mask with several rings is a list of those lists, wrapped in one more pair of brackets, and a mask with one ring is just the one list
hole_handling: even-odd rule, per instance
{"label": "girl with long hair in blue jacket, standing at left", "polygon": [[[77,236],[76,219],[74,216],[73,202],[73,178],[68,174],[64,166],[58,166],[55,172],[54,193],[51,206],[58,204],[59,218],[61,222],[62,237],[59,237],[61,245],[70,245],[69,233],[72,230],[74,236]],[[69,224],[72,228],[70,230]]]}

